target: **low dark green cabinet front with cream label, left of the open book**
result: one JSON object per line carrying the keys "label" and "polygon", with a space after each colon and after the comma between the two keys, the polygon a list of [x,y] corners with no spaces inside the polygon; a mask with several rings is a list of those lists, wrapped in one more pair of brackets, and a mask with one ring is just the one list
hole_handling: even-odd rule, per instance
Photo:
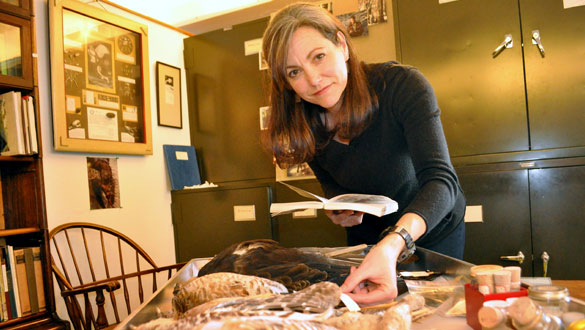
{"label": "low dark green cabinet front with cream label, left of the open book", "polygon": [[231,244],[273,237],[271,184],[175,190],[171,198],[177,262],[213,257]]}

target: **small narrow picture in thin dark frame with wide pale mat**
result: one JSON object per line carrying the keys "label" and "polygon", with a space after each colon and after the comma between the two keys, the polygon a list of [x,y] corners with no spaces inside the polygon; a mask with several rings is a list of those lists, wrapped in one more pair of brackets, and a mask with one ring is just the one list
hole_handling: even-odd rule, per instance
{"label": "small narrow picture in thin dark frame with wide pale mat", "polygon": [[181,69],[156,62],[158,125],[183,128],[181,111]]}

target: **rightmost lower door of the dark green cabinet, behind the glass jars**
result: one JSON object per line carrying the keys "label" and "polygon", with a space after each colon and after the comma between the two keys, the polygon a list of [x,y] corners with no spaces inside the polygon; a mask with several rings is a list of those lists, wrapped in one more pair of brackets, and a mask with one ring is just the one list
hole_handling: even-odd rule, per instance
{"label": "rightmost lower door of the dark green cabinet, behind the glass jars", "polygon": [[581,280],[585,274],[585,166],[530,170],[535,276]]}

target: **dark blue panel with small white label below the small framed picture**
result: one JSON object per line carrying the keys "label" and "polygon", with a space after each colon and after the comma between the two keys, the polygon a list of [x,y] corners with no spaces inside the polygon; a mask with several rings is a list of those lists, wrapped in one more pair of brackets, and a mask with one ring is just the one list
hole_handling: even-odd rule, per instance
{"label": "dark blue panel with small white label below the small framed picture", "polygon": [[197,155],[193,146],[163,145],[172,190],[201,184]]}

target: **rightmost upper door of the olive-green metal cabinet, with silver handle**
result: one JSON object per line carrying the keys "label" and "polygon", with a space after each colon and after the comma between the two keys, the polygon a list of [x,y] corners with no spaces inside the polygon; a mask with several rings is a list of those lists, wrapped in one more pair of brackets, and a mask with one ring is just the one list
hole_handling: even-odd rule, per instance
{"label": "rightmost upper door of the olive-green metal cabinet, with silver handle", "polygon": [[[521,0],[532,149],[585,146],[585,5]],[[544,57],[532,42],[538,30]]]}

